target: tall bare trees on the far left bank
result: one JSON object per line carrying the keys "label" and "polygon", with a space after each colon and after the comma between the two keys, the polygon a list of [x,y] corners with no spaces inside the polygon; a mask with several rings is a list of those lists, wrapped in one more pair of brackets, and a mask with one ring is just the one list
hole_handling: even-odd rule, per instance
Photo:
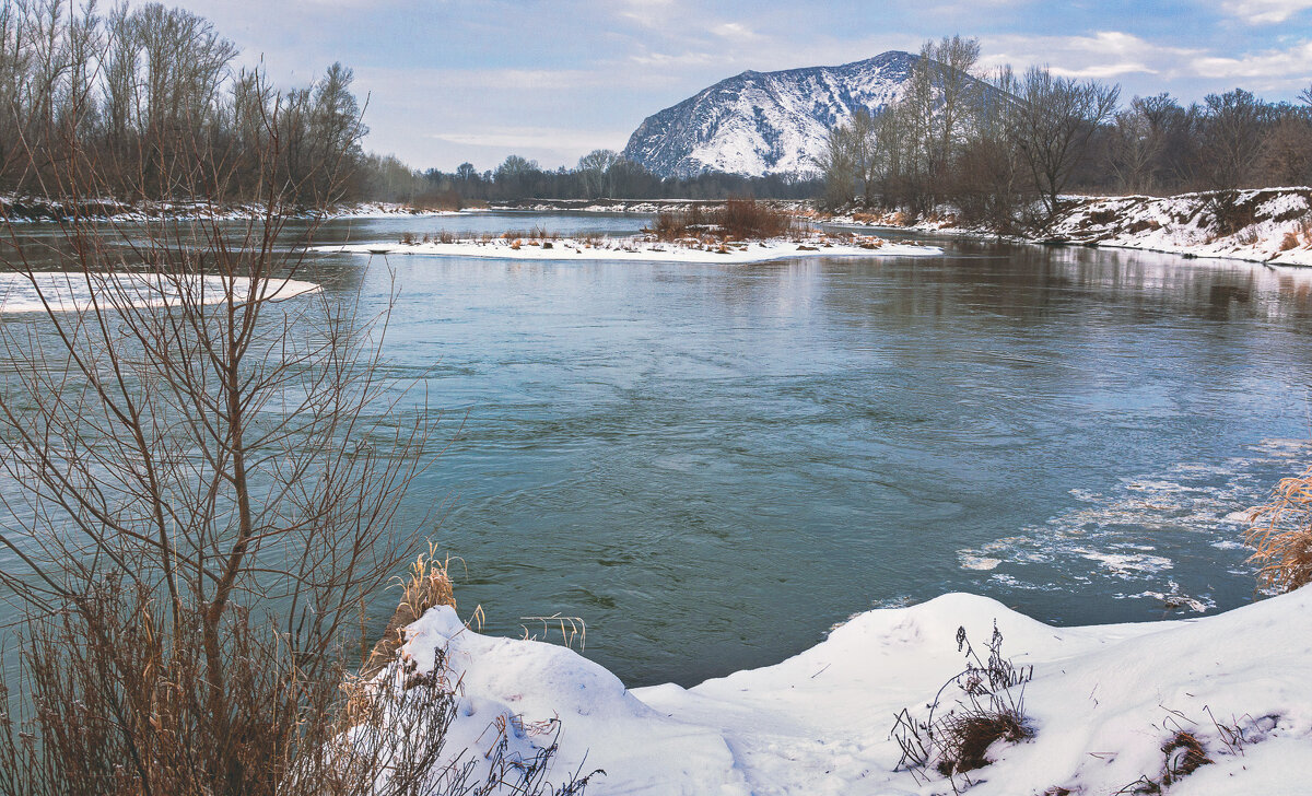
{"label": "tall bare trees on the far left bank", "polygon": [[224,197],[251,199],[256,161],[272,155],[290,201],[358,195],[366,130],[352,71],[332,64],[279,92],[261,68],[236,68],[237,52],[203,17],[157,3],[100,13],[94,0],[5,0],[0,190],[50,197],[56,174],[94,170],[104,198],[213,198],[188,197],[178,174],[223,172]]}

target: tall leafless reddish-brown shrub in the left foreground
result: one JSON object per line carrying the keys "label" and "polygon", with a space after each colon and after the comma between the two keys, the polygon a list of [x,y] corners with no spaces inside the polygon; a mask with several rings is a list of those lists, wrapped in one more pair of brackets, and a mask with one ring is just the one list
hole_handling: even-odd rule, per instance
{"label": "tall leafless reddish-brown shrub in the left foreground", "polygon": [[[417,396],[409,412],[411,393],[380,376],[386,311],[371,317],[323,292],[285,300],[308,254],[286,245],[283,226],[304,197],[321,209],[337,194],[337,164],[289,184],[282,127],[248,121],[262,143],[243,152],[241,180],[185,167],[209,146],[185,136],[163,172],[136,174],[143,188],[163,180],[205,197],[190,219],[129,228],[75,210],[39,252],[3,226],[0,271],[43,312],[0,323],[0,468],[12,487],[0,497],[0,582],[8,616],[22,620],[0,792],[495,787],[437,766],[453,757],[449,688],[413,683],[361,702],[349,674],[366,643],[362,606],[413,549],[399,511],[429,462],[428,412]],[[72,209],[109,185],[77,147],[50,147],[77,156],[43,169],[43,193]],[[252,178],[260,211],[222,220]],[[83,302],[38,278],[51,262]],[[445,573],[421,569],[405,589],[411,610],[446,594]],[[554,753],[506,759],[499,776],[550,792]]]}

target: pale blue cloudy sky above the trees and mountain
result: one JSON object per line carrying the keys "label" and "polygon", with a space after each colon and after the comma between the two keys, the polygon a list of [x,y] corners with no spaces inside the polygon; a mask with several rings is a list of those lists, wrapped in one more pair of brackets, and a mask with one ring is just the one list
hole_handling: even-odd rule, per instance
{"label": "pale blue cloudy sky above the trees and mountain", "polygon": [[[168,0],[167,0],[168,1]],[[832,66],[976,37],[981,66],[1048,66],[1186,104],[1312,84],[1312,0],[172,0],[283,87],[335,60],[369,105],[365,147],[415,168],[573,167],[744,70]]]}

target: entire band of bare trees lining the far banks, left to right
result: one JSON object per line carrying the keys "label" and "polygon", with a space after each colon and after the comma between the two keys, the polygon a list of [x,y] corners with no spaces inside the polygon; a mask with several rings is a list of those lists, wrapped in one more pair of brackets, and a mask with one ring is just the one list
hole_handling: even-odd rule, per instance
{"label": "entire band of bare trees lining the far banks, left to right", "polygon": [[[495,169],[416,170],[366,153],[353,72],[274,87],[206,18],[160,3],[101,12],[96,0],[0,5],[0,191],[50,197],[52,180],[94,174],[105,198],[256,199],[274,157],[300,205],[387,201],[459,209],[509,199],[819,198],[904,210],[953,206],[1009,229],[1056,212],[1063,193],[1172,194],[1312,182],[1312,88],[1302,104],[1244,90],[1182,105],[1134,97],[1048,68],[977,68],[976,39],[928,42],[903,98],[834,127],[813,174],[661,178],[610,149],[575,168],[518,155]],[[268,142],[277,140],[272,153]],[[258,155],[257,155],[258,153]],[[328,167],[332,168],[328,168]],[[222,195],[193,197],[180,174],[224,173]],[[335,174],[333,182],[325,180]]]}

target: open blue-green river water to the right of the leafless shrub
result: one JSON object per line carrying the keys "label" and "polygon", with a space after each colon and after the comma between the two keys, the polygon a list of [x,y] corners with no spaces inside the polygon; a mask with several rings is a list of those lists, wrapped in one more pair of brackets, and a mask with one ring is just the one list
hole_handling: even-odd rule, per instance
{"label": "open blue-green river water to the right of the leafless shrub", "polygon": [[577,616],[627,685],[768,665],[945,591],[1059,624],[1253,599],[1240,513],[1312,456],[1312,273],[933,243],[750,266],[316,254],[298,278],[398,291],[388,372],[446,418],[416,532],[466,563],[464,612],[510,635]]}

